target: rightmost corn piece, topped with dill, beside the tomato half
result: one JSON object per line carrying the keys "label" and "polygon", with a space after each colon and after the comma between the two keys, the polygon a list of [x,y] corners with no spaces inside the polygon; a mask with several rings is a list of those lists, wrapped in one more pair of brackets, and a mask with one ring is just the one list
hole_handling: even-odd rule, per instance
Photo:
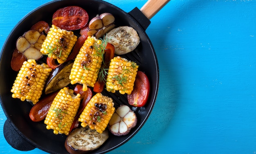
{"label": "rightmost corn piece, topped with dill, beside the tomato half", "polygon": [[138,65],[122,57],[111,59],[106,81],[107,91],[131,94],[137,75]]}

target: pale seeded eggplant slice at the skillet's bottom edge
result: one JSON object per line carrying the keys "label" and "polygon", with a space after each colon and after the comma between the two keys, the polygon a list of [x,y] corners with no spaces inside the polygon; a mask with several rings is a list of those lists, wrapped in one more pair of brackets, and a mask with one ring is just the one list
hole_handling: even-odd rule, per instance
{"label": "pale seeded eggplant slice at the skillet's bottom edge", "polygon": [[84,154],[100,147],[108,137],[108,130],[99,133],[88,126],[76,128],[67,136],[65,148],[70,154]]}

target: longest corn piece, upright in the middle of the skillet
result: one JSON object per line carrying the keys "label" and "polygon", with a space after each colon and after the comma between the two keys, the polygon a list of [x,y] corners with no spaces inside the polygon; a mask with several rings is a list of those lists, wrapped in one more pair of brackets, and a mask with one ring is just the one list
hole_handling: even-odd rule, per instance
{"label": "longest corn piece, upright in the middle of the skillet", "polygon": [[83,91],[87,90],[87,86],[94,87],[97,81],[104,54],[101,44],[101,40],[97,40],[96,37],[88,36],[72,66],[70,83],[83,84]]}

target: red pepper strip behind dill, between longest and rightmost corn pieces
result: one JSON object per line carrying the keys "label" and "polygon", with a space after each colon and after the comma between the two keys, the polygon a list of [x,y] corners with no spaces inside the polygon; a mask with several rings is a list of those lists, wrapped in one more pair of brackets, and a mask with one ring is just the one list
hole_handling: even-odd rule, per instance
{"label": "red pepper strip behind dill, between longest and rightmost corn pieces", "polygon": [[[104,68],[109,67],[110,60],[112,58],[114,58],[114,56],[115,56],[115,47],[113,46],[113,44],[108,43],[106,48],[105,48],[105,54],[104,54],[104,63],[106,64],[104,66]],[[107,76],[105,76],[105,79],[106,78],[107,78]],[[101,81],[98,78],[98,80],[94,84],[93,91],[94,92],[102,92],[105,84],[106,84],[105,81]]]}

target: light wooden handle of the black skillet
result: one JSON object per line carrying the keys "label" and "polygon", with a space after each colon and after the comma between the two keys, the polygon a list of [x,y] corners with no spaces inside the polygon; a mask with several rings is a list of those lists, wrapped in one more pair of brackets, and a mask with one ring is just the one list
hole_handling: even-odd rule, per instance
{"label": "light wooden handle of the black skillet", "polygon": [[148,0],[140,11],[150,20],[170,0]]}

